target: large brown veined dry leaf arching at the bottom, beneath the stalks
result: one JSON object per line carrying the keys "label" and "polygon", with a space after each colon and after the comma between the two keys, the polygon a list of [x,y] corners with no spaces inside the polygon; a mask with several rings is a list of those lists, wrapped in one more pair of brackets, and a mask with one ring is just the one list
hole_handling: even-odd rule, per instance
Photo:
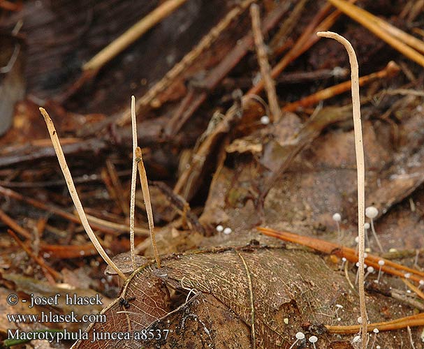
{"label": "large brown veined dry leaf arching at the bottom, beneath the stalks", "polygon": [[[390,299],[369,297],[367,302],[373,322],[382,320],[381,308],[394,308]],[[344,307],[341,322],[335,304]],[[108,321],[91,325],[89,340],[73,348],[288,348],[298,331],[319,336],[319,348],[335,342],[351,348],[351,336],[326,335],[322,325],[355,325],[359,310],[342,273],[318,255],[252,242],[173,255],[161,269],[149,262],[131,275],[121,297],[103,313]],[[134,339],[150,330],[162,338]],[[91,343],[94,332],[120,332],[128,339]],[[381,341],[387,336],[381,334]],[[407,340],[406,333],[396,336],[392,343]]]}

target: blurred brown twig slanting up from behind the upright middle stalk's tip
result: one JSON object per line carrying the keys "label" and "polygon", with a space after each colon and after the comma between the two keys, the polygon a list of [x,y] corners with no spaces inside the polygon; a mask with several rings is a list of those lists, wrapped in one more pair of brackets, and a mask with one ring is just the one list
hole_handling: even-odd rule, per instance
{"label": "blurred brown twig slanting up from behind the upright middle stalk's tip", "polygon": [[[203,36],[203,38],[193,48],[193,50],[187,53],[182,58],[182,60],[175,64],[175,66],[173,66],[173,68],[171,68],[171,70],[169,70],[161,80],[156,82],[156,84],[154,84],[154,86],[149,89],[149,91],[147,91],[144,96],[138,99],[136,103],[136,112],[138,112],[142,107],[148,107],[154,101],[154,98],[156,98],[156,96],[161,93],[161,91],[167,89],[170,84],[172,84],[172,82],[180,74],[182,74],[195,59],[200,56],[200,54],[205,52],[205,50],[207,50],[212,45],[212,43],[217,40],[217,38],[228,27],[228,25],[231,24],[235,18],[241,15],[243,11],[254,1],[255,0],[244,0],[242,3],[240,3],[239,6],[228,12],[227,15],[215,27],[213,27],[205,36]],[[126,124],[129,119],[131,119],[131,110],[125,110],[122,114],[122,117],[117,121],[117,124],[122,126]]]}

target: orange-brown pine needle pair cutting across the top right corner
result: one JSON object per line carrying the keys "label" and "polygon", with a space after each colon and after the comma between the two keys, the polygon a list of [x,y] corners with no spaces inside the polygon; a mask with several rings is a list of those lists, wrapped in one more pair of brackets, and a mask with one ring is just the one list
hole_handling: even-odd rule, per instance
{"label": "orange-brown pine needle pair cutting across the top right corner", "polygon": [[[377,20],[377,17],[367,12],[366,10],[363,10],[358,6],[354,6],[351,3],[342,0],[329,1],[334,6],[339,8],[339,10],[342,10],[346,15],[351,17],[353,20],[356,20],[356,22],[362,24],[373,34],[377,35],[379,38],[381,38],[381,40],[386,41],[386,43],[388,43],[390,46],[394,47],[397,51],[404,54],[404,56],[415,61],[421,66],[424,66],[424,56],[414,50],[414,48],[409,47],[406,43],[404,43],[405,37],[408,36],[408,34],[402,32],[402,40],[399,40],[397,37],[399,37],[400,29],[396,28],[395,30],[395,27],[391,26],[386,22],[383,22],[383,20]],[[423,43],[417,45],[416,39],[411,40],[409,38],[407,39],[407,43],[414,45],[414,47],[418,48],[418,50],[424,50]]]}

